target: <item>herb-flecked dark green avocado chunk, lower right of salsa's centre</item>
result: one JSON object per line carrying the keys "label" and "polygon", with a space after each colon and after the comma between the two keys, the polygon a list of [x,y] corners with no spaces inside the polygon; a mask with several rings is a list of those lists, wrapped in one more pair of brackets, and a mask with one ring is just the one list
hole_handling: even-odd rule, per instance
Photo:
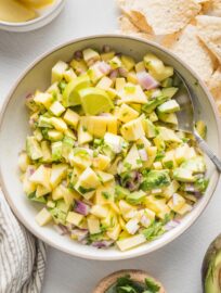
{"label": "herb-flecked dark green avocado chunk, lower right of salsa's centre", "polygon": [[151,170],[144,177],[144,180],[141,183],[141,189],[148,191],[152,189],[165,188],[168,187],[170,182],[171,180],[168,170]]}

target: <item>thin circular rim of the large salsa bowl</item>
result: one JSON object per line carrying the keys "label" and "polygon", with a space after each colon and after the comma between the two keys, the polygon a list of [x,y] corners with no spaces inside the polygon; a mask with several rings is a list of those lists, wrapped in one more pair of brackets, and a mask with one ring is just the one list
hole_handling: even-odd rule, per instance
{"label": "thin circular rim of the large salsa bowl", "polygon": [[[164,47],[153,42],[153,41],[148,41],[148,40],[144,40],[140,37],[131,37],[131,36],[127,36],[127,35],[122,35],[122,34],[100,34],[100,35],[90,35],[90,36],[86,36],[86,37],[80,37],[80,38],[74,38],[69,41],[65,41],[58,46],[54,46],[52,49],[48,50],[46,53],[39,55],[38,58],[36,58],[27,67],[25,71],[23,71],[23,73],[16,78],[14,85],[12,86],[11,90],[9,91],[9,93],[6,94],[4,102],[1,106],[0,110],[0,130],[2,128],[2,123],[4,119],[4,115],[6,112],[6,107],[8,104],[10,103],[10,100],[13,95],[13,92],[16,90],[16,88],[20,86],[20,84],[22,82],[22,80],[24,79],[24,77],[28,74],[29,71],[31,71],[39,62],[43,61],[47,56],[49,56],[50,54],[58,51],[60,49],[63,49],[65,47],[68,47],[72,43],[77,43],[77,42],[81,42],[84,40],[95,40],[99,38],[119,38],[119,39],[130,39],[130,40],[135,40],[135,41],[140,41],[143,43],[147,43],[151,44],[161,51],[164,51],[166,54],[171,55],[174,60],[177,60],[179,63],[183,64],[184,67],[191,72],[191,74],[197,78],[198,84],[202,86],[203,90],[205,91],[207,99],[209,100],[209,103],[212,107],[212,111],[214,113],[214,120],[216,120],[216,125],[217,125],[217,130],[218,130],[218,141],[221,144],[221,125],[220,125],[220,117],[218,114],[218,109],[216,106],[214,100],[211,97],[209,90],[207,89],[206,85],[204,84],[204,81],[202,80],[200,76],[198,76],[197,73],[195,73],[190,65],[187,65],[184,61],[182,61],[179,56],[177,56],[174,53],[168,51],[167,49],[165,49]],[[219,149],[218,151],[218,156],[221,155],[221,150]],[[14,212],[14,214],[16,215],[17,219],[28,229],[28,231],[31,231],[31,233],[37,237],[38,239],[40,239],[41,241],[43,241],[44,243],[49,244],[52,247],[57,249],[58,251],[65,252],[69,255],[73,256],[77,256],[80,258],[84,258],[84,259],[94,259],[94,260],[119,260],[119,259],[129,259],[129,258],[134,258],[134,257],[139,257],[152,252],[155,252],[164,246],[166,246],[167,244],[169,244],[170,242],[172,242],[173,240],[178,239],[179,237],[181,237],[184,232],[187,231],[187,229],[202,216],[203,212],[206,209],[207,205],[209,204],[213,193],[216,192],[217,186],[219,183],[219,180],[221,178],[221,174],[218,173],[217,170],[217,180],[216,182],[213,182],[212,186],[212,191],[211,191],[211,195],[207,199],[207,201],[205,202],[205,204],[203,206],[200,206],[199,211],[197,212],[197,214],[192,217],[190,219],[190,221],[187,224],[185,224],[184,227],[182,227],[181,229],[178,229],[177,233],[174,233],[173,235],[171,235],[170,238],[166,239],[165,241],[162,241],[161,243],[157,243],[157,245],[155,245],[154,247],[152,247],[151,250],[148,250],[146,252],[146,250],[143,250],[141,252],[134,252],[134,250],[130,250],[128,251],[128,254],[121,254],[121,255],[115,255],[115,256],[96,256],[94,255],[88,255],[86,253],[80,253],[80,252],[74,252],[70,251],[69,249],[67,249],[65,245],[61,246],[60,244],[56,244],[53,240],[50,240],[49,238],[46,238],[44,235],[42,235],[41,233],[37,232],[36,230],[31,230],[31,225],[29,225],[25,217],[23,217],[20,213],[20,209],[14,205],[13,201],[11,201],[11,196],[9,195],[8,189],[6,189],[6,184],[4,184],[4,180],[3,180],[3,176],[2,176],[2,165],[0,164],[0,187],[2,189],[4,199],[6,200],[6,202],[9,203],[11,209]],[[145,244],[143,244],[145,245]]]}

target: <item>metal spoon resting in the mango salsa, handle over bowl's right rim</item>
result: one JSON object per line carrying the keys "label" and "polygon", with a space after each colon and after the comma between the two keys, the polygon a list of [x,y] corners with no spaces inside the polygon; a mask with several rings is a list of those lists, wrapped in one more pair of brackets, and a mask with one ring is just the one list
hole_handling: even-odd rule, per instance
{"label": "metal spoon resting in the mango salsa, handle over bowl's right rim", "polygon": [[208,155],[208,157],[213,162],[218,170],[221,173],[221,160],[218,158],[218,156],[210,150],[207,142],[198,135],[195,128],[195,93],[192,92],[191,88],[187,86],[184,78],[179,73],[176,73],[176,75],[180,88],[179,92],[176,95],[176,100],[181,107],[181,111],[177,113],[179,129],[194,135],[198,146],[202,149],[203,152]]}

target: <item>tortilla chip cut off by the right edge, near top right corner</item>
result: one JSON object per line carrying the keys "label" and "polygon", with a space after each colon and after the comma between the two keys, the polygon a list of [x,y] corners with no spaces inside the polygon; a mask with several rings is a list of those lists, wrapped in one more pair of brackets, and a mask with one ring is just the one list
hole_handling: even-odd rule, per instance
{"label": "tortilla chip cut off by the right edge, near top right corner", "polygon": [[196,21],[199,38],[221,63],[221,17],[199,15]]}

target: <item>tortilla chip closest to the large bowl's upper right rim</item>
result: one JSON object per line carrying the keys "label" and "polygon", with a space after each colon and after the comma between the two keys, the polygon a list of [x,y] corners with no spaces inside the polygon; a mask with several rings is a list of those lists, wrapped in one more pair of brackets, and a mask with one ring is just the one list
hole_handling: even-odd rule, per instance
{"label": "tortilla chip closest to the large bowl's upper right rim", "polygon": [[210,79],[214,68],[214,60],[199,40],[195,26],[187,25],[176,41],[170,43],[169,49],[186,62],[204,81]]}

